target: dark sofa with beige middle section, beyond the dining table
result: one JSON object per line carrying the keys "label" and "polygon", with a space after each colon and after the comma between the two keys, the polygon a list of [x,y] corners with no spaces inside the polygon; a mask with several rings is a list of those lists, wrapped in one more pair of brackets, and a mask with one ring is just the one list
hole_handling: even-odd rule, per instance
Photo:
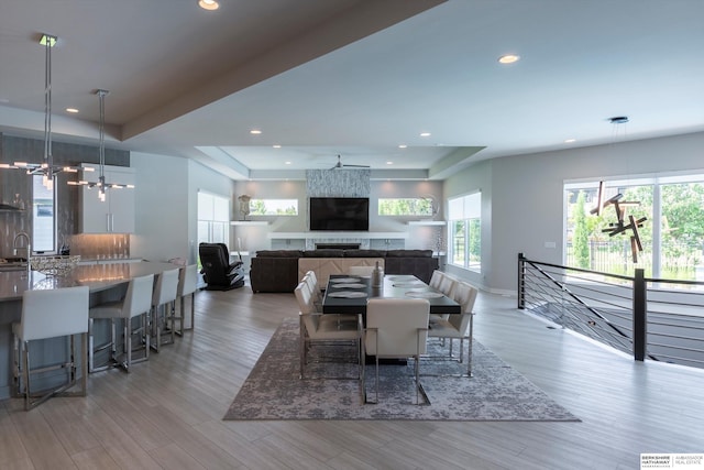
{"label": "dark sofa with beige middle section, beyond the dining table", "polygon": [[413,274],[428,283],[439,267],[432,250],[261,250],[252,258],[252,292],[294,292],[302,275],[312,270],[327,284],[330,274],[345,274],[352,265],[373,266],[386,274]]}

